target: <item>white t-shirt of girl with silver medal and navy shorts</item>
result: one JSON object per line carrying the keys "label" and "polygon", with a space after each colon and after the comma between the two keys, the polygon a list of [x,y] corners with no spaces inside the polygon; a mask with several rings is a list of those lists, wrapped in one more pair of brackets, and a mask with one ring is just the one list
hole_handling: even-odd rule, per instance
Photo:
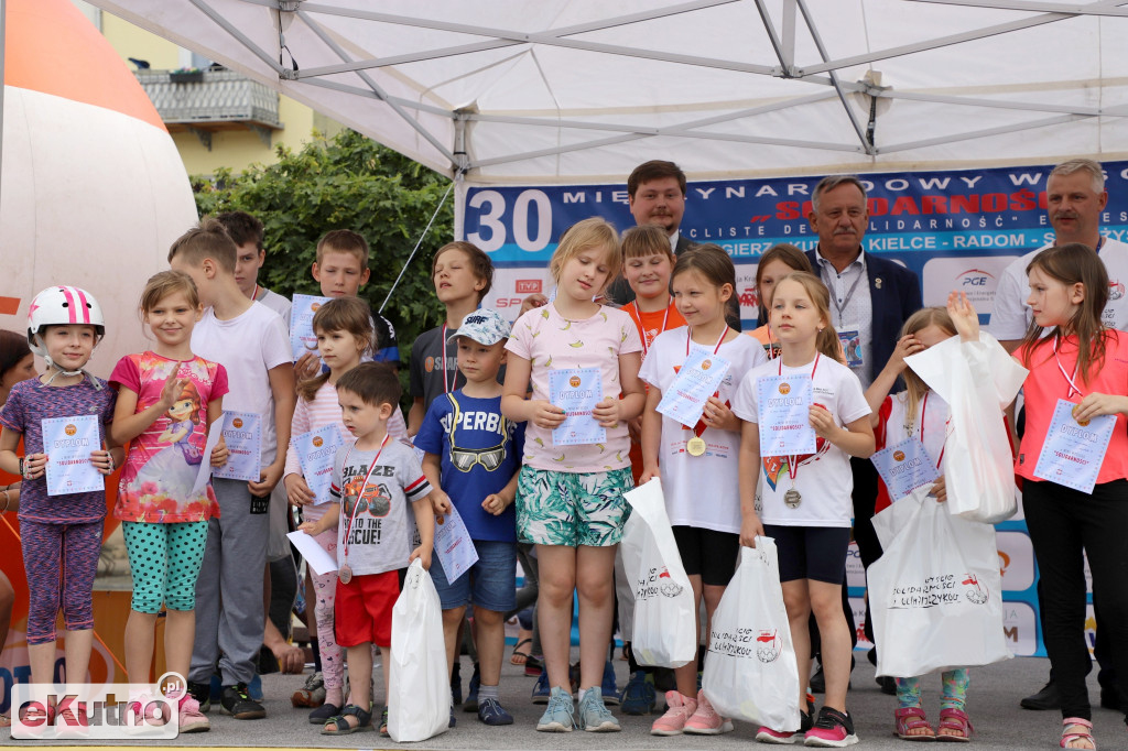
{"label": "white t-shirt of girl with silver medal and navy shorts", "polygon": [[[816,365],[816,363],[818,363]],[[744,378],[732,400],[732,410],[743,421],[759,424],[756,382],[763,377],[787,374],[810,376],[814,404],[822,405],[843,426],[869,415],[869,403],[862,382],[849,368],[830,357],[818,356],[799,368],[788,368],[779,359],[757,366]],[[787,457],[760,457],[759,516],[765,524],[781,527],[849,527],[854,513],[851,493],[854,474],[849,454],[823,439],[817,439],[816,452],[797,457],[794,486]],[[784,494],[794,487],[802,496],[796,509],[784,504]]]}

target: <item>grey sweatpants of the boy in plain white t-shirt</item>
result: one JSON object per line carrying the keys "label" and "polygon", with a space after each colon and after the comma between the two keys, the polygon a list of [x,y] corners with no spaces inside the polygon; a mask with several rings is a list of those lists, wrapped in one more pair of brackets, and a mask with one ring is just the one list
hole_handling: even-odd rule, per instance
{"label": "grey sweatpants of the boy in plain white t-shirt", "polygon": [[244,480],[212,478],[212,486],[220,518],[208,522],[196,580],[196,640],[188,680],[210,681],[219,659],[223,686],[249,683],[266,622],[263,569],[270,503],[253,500]]}

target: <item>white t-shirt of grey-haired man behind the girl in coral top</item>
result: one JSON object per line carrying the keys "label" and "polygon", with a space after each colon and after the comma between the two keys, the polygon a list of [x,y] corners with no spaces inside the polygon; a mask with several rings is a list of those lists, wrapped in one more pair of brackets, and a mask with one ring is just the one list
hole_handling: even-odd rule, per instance
{"label": "white t-shirt of grey-haired man behind the girl in coral top", "polygon": [[[1026,266],[1039,253],[1051,247],[1054,246],[1047,245],[1031,250],[1003,270],[995,289],[995,308],[988,325],[995,338],[1021,339],[1026,335],[1026,328],[1033,320],[1030,306],[1026,304],[1026,298],[1030,297]],[[1125,294],[1125,285],[1128,285],[1128,244],[1105,237],[1096,255],[1109,274],[1109,301],[1101,320],[1109,328],[1128,332],[1128,294]]]}

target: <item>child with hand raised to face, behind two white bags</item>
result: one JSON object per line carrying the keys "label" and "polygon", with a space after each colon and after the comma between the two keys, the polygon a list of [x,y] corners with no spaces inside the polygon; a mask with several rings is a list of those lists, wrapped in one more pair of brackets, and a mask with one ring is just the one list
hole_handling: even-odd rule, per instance
{"label": "child with hand raised to face, behind two white bags", "polygon": [[[876,511],[907,495],[920,484],[935,483],[933,494],[944,501],[944,477],[941,461],[948,438],[949,407],[928,386],[913,372],[905,359],[955,336],[955,324],[944,308],[924,308],[913,313],[897,341],[893,355],[865,391],[873,414],[870,424],[874,430],[878,453],[873,456],[879,470],[888,462],[919,468],[897,475],[892,486],[879,480]],[[890,394],[898,378],[905,379],[905,390]],[[1002,415],[1001,415],[1002,416]],[[889,457],[885,459],[885,457]],[[893,459],[900,457],[900,459]],[[887,472],[883,472],[883,476]],[[940,730],[933,730],[920,706],[920,679],[897,679],[896,733],[905,740],[932,739],[937,734],[945,740],[967,740],[971,736],[971,722],[964,712],[968,695],[967,668],[945,670],[941,677]]]}

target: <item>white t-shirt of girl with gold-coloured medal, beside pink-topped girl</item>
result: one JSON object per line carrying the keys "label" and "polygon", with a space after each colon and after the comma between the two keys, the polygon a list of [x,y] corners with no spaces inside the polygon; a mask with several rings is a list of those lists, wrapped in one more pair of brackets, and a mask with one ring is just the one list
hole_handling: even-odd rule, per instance
{"label": "white t-shirt of girl with gold-coloured medal, beside pink-topped girl", "polygon": [[[686,361],[688,336],[688,327],[658,335],[651,343],[638,377],[663,392],[669,389],[677,369]],[[691,343],[690,350],[712,352],[713,346]],[[717,398],[731,406],[744,373],[767,362],[767,355],[760,343],[750,336],[725,342],[716,353],[730,363],[729,372],[717,389]],[[670,523],[739,534],[740,474],[737,453],[740,451],[740,432],[706,428],[702,440],[707,448],[700,457],[686,450],[686,442],[693,435],[688,427],[662,415],[662,441],[658,456]]]}

